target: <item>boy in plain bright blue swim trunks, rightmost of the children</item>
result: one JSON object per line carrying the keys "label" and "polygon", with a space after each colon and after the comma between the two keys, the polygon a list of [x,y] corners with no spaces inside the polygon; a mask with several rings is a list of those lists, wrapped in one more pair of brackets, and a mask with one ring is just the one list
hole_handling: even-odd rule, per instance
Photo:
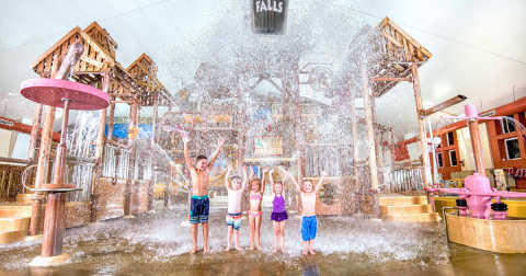
{"label": "boy in plain bright blue swim trunks, rightmost of the children", "polygon": [[316,197],[323,184],[325,170],[321,172],[321,179],[316,185],[316,188],[312,188],[312,182],[310,180],[304,181],[304,187],[301,188],[296,180],[294,180],[291,173],[288,173],[288,176],[301,195],[301,209],[304,216],[301,220],[301,239],[304,240],[304,255],[307,255],[308,253],[316,254],[312,250],[316,232],[318,230],[318,221],[316,220]]}

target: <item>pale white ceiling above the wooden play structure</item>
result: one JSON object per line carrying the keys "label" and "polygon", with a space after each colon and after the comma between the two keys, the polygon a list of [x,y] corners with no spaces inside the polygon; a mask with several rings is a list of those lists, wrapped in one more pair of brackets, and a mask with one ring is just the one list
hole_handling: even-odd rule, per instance
{"label": "pale white ceiling above the wooden play structure", "polygon": [[[175,93],[183,81],[192,81],[204,61],[199,60],[203,48],[197,44],[206,44],[203,37],[210,30],[228,37],[229,30],[217,30],[215,24],[229,13],[247,14],[248,3],[249,0],[0,0],[0,102],[5,105],[0,105],[0,116],[5,108],[5,117],[32,117],[33,103],[19,93],[24,79],[37,77],[30,64],[71,28],[85,27],[93,21],[117,42],[116,59],[124,67],[146,53],[158,64],[161,82]],[[317,18],[311,21],[312,26],[307,26],[312,30],[317,30],[317,24],[329,24],[320,22],[334,19],[327,13],[317,16],[311,8],[320,3],[329,7],[329,15],[333,12],[359,18],[354,21],[357,25],[348,30],[359,30],[364,24],[376,26],[389,16],[430,50],[433,57],[420,69],[424,100],[439,103],[462,94],[479,111],[487,111],[512,102],[514,96],[526,96],[524,0],[290,0],[289,20],[299,24],[309,22],[301,21],[301,16]],[[243,15],[230,14],[229,20],[243,21]],[[348,41],[353,32],[348,31]],[[188,60],[173,64],[173,57]],[[180,69],[172,71],[174,67]],[[126,115],[127,110],[123,105],[118,112]],[[464,111],[457,105],[446,112]],[[399,139],[418,133],[412,84],[400,83],[378,99],[377,113],[379,123],[392,126]],[[148,116],[148,112],[141,114]],[[433,118],[435,126],[447,123],[438,122],[438,115]]]}

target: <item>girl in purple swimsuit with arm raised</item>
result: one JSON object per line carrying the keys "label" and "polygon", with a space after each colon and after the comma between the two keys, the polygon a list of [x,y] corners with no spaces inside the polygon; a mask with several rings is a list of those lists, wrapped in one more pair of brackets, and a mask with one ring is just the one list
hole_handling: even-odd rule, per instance
{"label": "girl in purple swimsuit with arm raised", "polygon": [[274,170],[268,172],[268,180],[272,185],[272,195],[274,200],[272,205],[274,206],[271,215],[272,225],[274,227],[274,251],[277,252],[278,237],[282,240],[282,252],[285,253],[285,220],[288,219],[287,211],[285,210],[285,185],[281,181],[274,183],[272,173]]}

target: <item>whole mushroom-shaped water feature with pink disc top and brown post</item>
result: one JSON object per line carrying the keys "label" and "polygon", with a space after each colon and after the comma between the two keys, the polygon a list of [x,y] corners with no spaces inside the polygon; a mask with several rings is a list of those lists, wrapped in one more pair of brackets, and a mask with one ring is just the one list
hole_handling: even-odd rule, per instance
{"label": "whole mushroom-shaped water feature with pink disc top and brown post", "polygon": [[33,102],[64,108],[62,129],[60,143],[57,146],[53,183],[32,188],[33,192],[47,193],[47,200],[41,256],[33,260],[30,265],[46,266],[69,258],[67,254],[62,254],[66,193],[82,189],[73,183],[65,183],[69,111],[106,108],[110,105],[110,96],[103,91],[87,84],[45,78],[23,81],[20,93]]}

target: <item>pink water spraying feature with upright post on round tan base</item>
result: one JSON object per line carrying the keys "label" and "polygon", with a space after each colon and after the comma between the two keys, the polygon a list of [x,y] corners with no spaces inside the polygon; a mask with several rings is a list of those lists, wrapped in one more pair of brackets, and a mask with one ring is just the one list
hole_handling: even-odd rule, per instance
{"label": "pink water spraying feature with upright post on round tan base", "polygon": [[[507,216],[507,205],[502,203],[501,198],[526,198],[526,193],[496,191],[491,187],[490,180],[485,177],[478,123],[487,119],[502,119],[502,117],[479,117],[476,104],[467,104],[464,108],[466,116],[442,116],[442,118],[468,120],[476,173],[466,177],[465,187],[462,188],[442,188],[438,187],[438,184],[435,184],[434,187],[425,191],[459,195],[456,203],[461,217],[471,216],[471,218],[491,219],[490,209],[492,209],[493,219],[504,220]],[[494,204],[492,204],[492,198],[495,199]]]}

